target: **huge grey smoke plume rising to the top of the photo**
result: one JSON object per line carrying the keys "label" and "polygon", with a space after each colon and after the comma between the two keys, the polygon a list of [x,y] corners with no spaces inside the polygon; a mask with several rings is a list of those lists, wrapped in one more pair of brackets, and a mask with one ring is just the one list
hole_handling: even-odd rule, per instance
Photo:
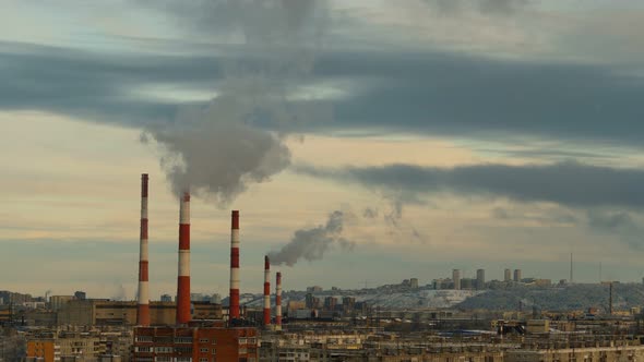
{"label": "huge grey smoke plume rising to the top of the photo", "polygon": [[284,125],[331,118],[330,106],[297,92],[312,72],[327,9],[274,0],[181,2],[170,10],[201,31],[217,34],[225,24],[243,35],[235,59],[219,64],[223,80],[208,105],[186,108],[142,135],[159,146],[175,194],[189,188],[225,206],[290,164]]}

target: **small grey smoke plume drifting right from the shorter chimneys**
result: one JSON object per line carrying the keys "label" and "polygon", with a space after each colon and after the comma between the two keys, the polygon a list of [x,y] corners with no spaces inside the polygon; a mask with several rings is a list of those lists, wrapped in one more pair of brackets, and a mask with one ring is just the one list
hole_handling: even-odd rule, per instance
{"label": "small grey smoke plume drifting right from the shorter chimneys", "polygon": [[333,245],[344,250],[354,248],[354,243],[342,237],[346,214],[335,210],[329,215],[326,225],[295,232],[290,242],[278,252],[269,253],[271,263],[294,266],[300,258],[309,262],[321,260]]}

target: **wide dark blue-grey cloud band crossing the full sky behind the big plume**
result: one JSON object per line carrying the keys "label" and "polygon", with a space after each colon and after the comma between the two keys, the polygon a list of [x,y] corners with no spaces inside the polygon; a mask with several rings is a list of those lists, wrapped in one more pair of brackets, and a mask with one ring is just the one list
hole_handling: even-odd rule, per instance
{"label": "wide dark blue-grey cloud band crossing the full sky behind the big plume", "polygon": [[[0,46],[2,109],[49,110],[141,126],[174,119],[177,107],[130,90],[158,83],[214,90],[224,72],[243,74],[250,70],[253,74],[270,71],[284,75],[283,83],[276,83],[281,89],[323,80],[356,85],[355,92],[333,102],[289,101],[297,121],[281,124],[281,131],[413,132],[504,143],[530,136],[635,147],[642,147],[640,135],[644,134],[644,79],[605,65],[502,61],[429,51],[325,51],[313,67],[307,51],[299,58],[290,53],[273,62],[262,60],[259,50],[260,55],[234,47],[227,48],[227,56],[213,57],[93,55],[16,47]],[[277,45],[269,55],[279,53],[279,49]],[[290,65],[296,60],[301,65]],[[238,65],[229,71],[226,69],[231,67],[226,64]],[[306,76],[294,77],[293,72],[305,72]],[[329,109],[334,109],[334,122],[300,120],[309,112],[312,117],[329,114]],[[261,117],[254,122],[275,128]]]}

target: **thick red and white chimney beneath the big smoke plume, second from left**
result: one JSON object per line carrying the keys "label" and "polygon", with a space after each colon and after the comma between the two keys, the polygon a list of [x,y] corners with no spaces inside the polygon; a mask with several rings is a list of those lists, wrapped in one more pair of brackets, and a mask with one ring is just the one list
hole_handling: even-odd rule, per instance
{"label": "thick red and white chimney beneath the big smoke plume, second from left", "polygon": [[183,193],[179,208],[179,275],[177,278],[177,324],[190,322],[190,193]]}

